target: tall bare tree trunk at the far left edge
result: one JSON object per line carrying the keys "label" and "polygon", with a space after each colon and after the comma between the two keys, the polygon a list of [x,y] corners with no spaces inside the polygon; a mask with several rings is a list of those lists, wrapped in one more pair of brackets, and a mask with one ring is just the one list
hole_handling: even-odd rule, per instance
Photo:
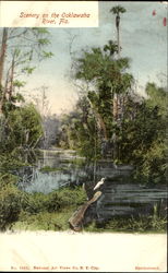
{"label": "tall bare tree trunk at the far left edge", "polygon": [[[4,70],[4,59],[5,59],[5,52],[7,52],[7,40],[8,40],[8,28],[3,28],[2,34],[2,44],[1,44],[1,50],[0,50],[0,88],[2,88],[2,78],[3,78],[3,70]],[[1,90],[1,98],[0,98],[0,114],[2,114],[2,106],[3,106],[3,99],[5,96],[5,90]]]}

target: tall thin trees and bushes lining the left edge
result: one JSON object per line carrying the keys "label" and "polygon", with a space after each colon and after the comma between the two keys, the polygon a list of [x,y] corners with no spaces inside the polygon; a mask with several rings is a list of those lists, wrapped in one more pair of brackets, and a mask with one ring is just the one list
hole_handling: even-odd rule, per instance
{"label": "tall thin trees and bushes lining the left edge", "polygon": [[[44,135],[43,117],[34,104],[25,102],[21,93],[25,82],[20,79],[22,75],[28,76],[33,73],[34,62],[37,63],[52,56],[51,52],[45,51],[49,43],[49,32],[46,28],[4,27],[2,29],[0,48],[1,230],[5,230],[17,221],[20,213],[29,207],[31,200],[34,200],[17,189],[19,178],[13,174],[15,168],[28,164],[26,151],[38,146]],[[34,210],[37,210],[35,207]]]}

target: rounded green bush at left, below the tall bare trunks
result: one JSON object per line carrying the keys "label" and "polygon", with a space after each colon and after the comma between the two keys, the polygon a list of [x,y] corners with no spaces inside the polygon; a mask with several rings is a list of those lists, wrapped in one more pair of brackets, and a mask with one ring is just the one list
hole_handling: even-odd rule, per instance
{"label": "rounded green bush at left, below the tall bare trunks", "polygon": [[12,152],[19,146],[34,147],[43,135],[40,116],[32,104],[8,112],[8,122],[4,121],[4,124],[0,143],[2,152]]}

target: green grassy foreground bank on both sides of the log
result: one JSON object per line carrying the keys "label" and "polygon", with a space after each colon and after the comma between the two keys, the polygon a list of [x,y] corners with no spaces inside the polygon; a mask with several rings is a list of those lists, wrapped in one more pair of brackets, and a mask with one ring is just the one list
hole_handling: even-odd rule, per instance
{"label": "green grassy foreground bank on both sides of the log", "polygon": [[[0,229],[67,230],[70,228],[69,218],[86,201],[86,193],[82,187],[62,188],[48,194],[25,193],[19,190],[14,183],[8,183],[7,178],[9,177],[3,178],[5,183],[1,181]],[[91,224],[84,226],[84,230],[92,233],[166,233],[167,218],[159,215],[158,207],[155,205],[151,216],[118,216],[106,223],[93,219]]]}

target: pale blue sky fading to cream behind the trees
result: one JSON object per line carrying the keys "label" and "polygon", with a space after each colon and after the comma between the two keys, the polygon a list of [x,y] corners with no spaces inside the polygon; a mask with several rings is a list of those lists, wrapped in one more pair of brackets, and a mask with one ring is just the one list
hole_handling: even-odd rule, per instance
{"label": "pale blue sky fading to cream behind the trees", "polygon": [[137,80],[137,92],[144,95],[148,81],[160,84],[160,73],[167,74],[167,26],[163,25],[163,19],[167,17],[168,5],[159,1],[99,1],[98,27],[49,28],[51,44],[47,50],[55,56],[43,61],[26,79],[26,94],[35,96],[37,88],[47,86],[50,112],[59,115],[71,110],[77,98],[70,78],[72,37],[71,50],[75,56],[80,56],[82,49],[103,47],[109,39],[116,40],[115,16],[109,10],[117,4],[127,9],[120,24],[121,56],[131,58],[130,72]]}

